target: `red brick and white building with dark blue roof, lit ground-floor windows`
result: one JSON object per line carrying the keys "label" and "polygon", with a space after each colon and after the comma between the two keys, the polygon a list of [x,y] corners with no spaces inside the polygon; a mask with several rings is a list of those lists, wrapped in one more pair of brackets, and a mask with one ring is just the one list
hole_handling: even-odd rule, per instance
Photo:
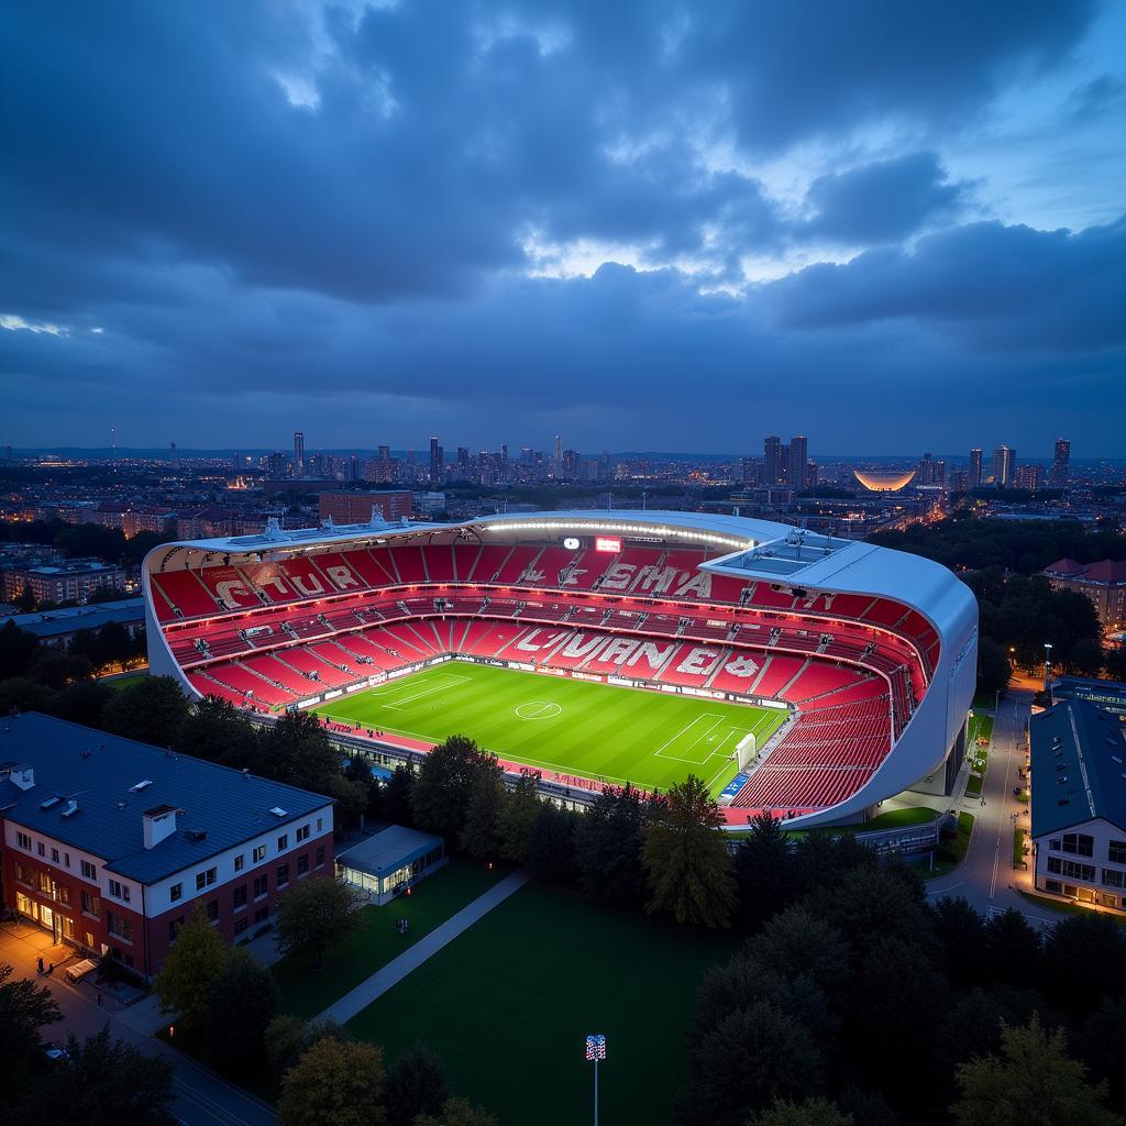
{"label": "red brick and white building with dark blue roof, lit ground-floor windows", "polygon": [[236,939],[333,870],[331,798],[35,713],[0,723],[0,829],[3,905],[143,978],[195,903]]}

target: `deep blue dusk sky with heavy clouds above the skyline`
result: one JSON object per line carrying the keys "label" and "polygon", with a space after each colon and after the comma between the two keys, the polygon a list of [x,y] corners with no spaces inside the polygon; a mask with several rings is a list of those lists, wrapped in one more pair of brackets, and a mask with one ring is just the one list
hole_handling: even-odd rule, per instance
{"label": "deep blue dusk sky with heavy clouds above the skyline", "polygon": [[1123,453],[1126,6],[0,12],[0,441]]}

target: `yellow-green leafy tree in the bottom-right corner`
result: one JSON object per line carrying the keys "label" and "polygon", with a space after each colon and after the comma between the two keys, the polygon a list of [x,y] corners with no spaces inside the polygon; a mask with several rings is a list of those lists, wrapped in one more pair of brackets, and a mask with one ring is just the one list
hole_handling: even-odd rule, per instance
{"label": "yellow-green leafy tree in the bottom-right corner", "polygon": [[1067,1055],[1062,1029],[1049,1031],[1035,1013],[1026,1026],[1001,1029],[1001,1055],[958,1065],[960,1097],[950,1107],[958,1126],[1121,1126],[1106,1108],[1105,1083]]}

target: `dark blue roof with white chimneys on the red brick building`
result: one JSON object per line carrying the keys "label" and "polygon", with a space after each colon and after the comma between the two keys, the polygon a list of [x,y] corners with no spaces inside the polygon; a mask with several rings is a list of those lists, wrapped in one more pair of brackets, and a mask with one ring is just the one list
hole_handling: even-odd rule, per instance
{"label": "dark blue roof with white chimneys on the red brick building", "polygon": [[[110,872],[151,884],[279,825],[331,798],[243,775],[187,754],[122,739],[64,720],[28,713],[0,721],[0,765],[28,763],[35,785],[0,789],[0,815],[45,837],[92,852]],[[151,781],[138,792],[131,787]],[[41,808],[50,797],[62,802]],[[78,812],[63,817],[66,799]],[[177,831],[145,849],[142,814],[182,810]],[[285,811],[278,816],[270,811]],[[206,833],[194,840],[193,831]]]}

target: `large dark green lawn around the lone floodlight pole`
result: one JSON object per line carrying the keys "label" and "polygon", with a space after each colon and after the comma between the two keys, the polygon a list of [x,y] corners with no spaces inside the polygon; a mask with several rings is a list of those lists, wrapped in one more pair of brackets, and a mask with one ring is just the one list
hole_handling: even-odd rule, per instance
{"label": "large dark green lawn around the lone floodlight pole", "polygon": [[[502,1123],[572,1126],[591,1110],[584,1037],[602,1033],[606,1121],[672,1121],[683,1035],[706,968],[738,948],[715,935],[609,911],[528,884],[352,1019],[390,1060],[421,1040],[450,1089]],[[535,1108],[534,1111],[529,1108]]]}

